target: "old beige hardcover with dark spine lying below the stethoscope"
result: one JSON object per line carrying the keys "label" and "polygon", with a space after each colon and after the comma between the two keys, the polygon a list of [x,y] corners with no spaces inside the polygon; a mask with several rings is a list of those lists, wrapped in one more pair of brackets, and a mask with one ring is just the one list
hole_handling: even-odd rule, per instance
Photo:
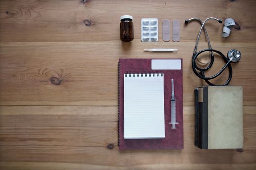
{"label": "old beige hardcover with dark spine lying below the stethoscope", "polygon": [[243,148],[243,88],[195,89],[195,145],[201,149]]}

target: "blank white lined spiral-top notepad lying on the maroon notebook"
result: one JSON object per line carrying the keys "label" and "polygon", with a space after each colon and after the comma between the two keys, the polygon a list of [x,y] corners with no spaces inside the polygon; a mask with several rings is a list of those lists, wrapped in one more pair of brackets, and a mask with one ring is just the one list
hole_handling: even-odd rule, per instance
{"label": "blank white lined spiral-top notepad lying on the maroon notebook", "polygon": [[164,75],[124,75],[124,139],[164,137]]}

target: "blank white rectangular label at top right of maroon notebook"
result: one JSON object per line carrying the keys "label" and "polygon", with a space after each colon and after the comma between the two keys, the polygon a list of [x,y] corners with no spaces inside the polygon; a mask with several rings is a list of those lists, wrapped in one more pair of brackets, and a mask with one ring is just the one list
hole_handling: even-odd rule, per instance
{"label": "blank white rectangular label at top right of maroon notebook", "polygon": [[180,70],[181,60],[180,59],[153,59],[151,60],[151,69]]}

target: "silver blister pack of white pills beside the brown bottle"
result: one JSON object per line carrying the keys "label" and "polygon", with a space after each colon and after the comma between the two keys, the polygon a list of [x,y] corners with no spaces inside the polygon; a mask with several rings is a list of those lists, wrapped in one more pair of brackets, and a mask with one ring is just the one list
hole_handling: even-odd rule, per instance
{"label": "silver blister pack of white pills beside the brown bottle", "polygon": [[157,18],[141,19],[141,41],[143,42],[158,41],[158,19]]}

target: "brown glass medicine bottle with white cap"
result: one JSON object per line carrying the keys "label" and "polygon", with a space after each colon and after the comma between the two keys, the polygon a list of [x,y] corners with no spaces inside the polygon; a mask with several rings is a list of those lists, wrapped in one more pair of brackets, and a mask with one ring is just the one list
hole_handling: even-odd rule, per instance
{"label": "brown glass medicine bottle with white cap", "polygon": [[120,17],[120,39],[124,42],[133,40],[133,17],[124,15]]}

